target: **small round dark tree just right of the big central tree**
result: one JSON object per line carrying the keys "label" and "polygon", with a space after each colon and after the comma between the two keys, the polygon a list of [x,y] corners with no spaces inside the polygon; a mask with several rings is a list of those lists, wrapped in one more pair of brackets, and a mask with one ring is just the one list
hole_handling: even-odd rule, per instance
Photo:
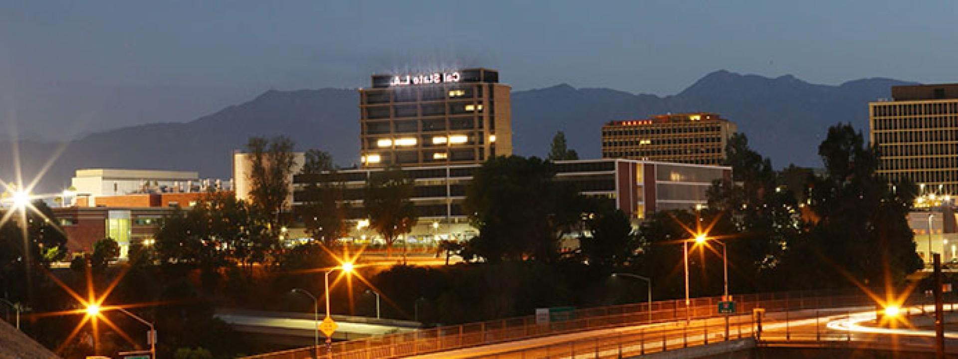
{"label": "small round dark tree just right of the big central tree", "polygon": [[594,214],[586,220],[586,227],[592,236],[581,236],[579,241],[582,255],[590,265],[614,269],[635,257],[640,243],[622,210]]}

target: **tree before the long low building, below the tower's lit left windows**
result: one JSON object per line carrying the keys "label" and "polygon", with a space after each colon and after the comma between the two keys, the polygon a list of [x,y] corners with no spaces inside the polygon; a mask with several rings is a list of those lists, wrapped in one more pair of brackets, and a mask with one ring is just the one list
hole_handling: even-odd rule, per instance
{"label": "tree before the long low building, below the tower's lit left windows", "polygon": [[412,195],[413,181],[398,167],[373,173],[366,184],[363,207],[369,215],[370,227],[386,241],[390,257],[396,239],[416,225],[416,207],[409,200]]}

